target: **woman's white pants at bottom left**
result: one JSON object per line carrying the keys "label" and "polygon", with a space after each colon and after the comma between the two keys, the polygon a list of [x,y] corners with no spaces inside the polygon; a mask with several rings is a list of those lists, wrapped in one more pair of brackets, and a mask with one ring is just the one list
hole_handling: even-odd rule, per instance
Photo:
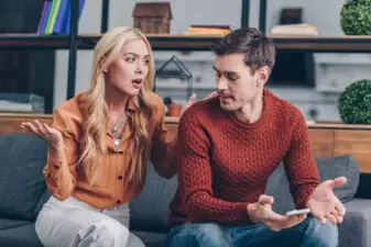
{"label": "woman's white pants at bottom left", "polygon": [[45,247],[145,247],[129,233],[129,203],[98,210],[73,197],[54,197],[36,218],[36,234]]}

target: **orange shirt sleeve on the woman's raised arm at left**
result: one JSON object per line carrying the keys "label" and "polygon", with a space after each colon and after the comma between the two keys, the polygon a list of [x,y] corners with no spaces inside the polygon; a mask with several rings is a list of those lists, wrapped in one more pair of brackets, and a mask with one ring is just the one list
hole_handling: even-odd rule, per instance
{"label": "orange shirt sleeve on the woman's raised arm at left", "polygon": [[47,165],[44,168],[44,177],[51,193],[65,200],[75,189],[77,172],[76,162],[78,159],[78,144],[75,139],[68,112],[56,110],[54,113],[53,127],[58,130],[63,136],[64,155],[56,159],[50,151],[47,153]]}

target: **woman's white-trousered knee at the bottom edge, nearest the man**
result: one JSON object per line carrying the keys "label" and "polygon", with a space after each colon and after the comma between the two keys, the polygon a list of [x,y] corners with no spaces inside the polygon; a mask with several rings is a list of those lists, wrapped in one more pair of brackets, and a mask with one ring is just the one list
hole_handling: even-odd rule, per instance
{"label": "woman's white-trousered knee at the bottom edge, nearest the man", "polygon": [[79,231],[74,242],[73,246],[77,247],[126,246],[129,242],[129,229],[116,221],[102,220]]}

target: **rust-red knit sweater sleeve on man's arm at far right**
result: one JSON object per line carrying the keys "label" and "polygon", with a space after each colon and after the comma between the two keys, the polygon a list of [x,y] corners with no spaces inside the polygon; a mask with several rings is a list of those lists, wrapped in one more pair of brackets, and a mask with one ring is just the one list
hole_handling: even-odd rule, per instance
{"label": "rust-red knit sweater sleeve on man's arm at far right", "polygon": [[290,181],[296,209],[304,209],[308,197],[319,184],[316,162],[312,154],[308,128],[302,113],[291,120],[295,124],[288,153],[284,158],[285,170]]}

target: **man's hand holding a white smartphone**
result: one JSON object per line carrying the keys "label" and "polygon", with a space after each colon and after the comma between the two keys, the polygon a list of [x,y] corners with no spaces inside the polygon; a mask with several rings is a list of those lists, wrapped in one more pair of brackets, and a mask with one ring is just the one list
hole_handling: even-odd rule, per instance
{"label": "man's hand holding a white smartphone", "polygon": [[[262,194],[258,202],[248,205],[248,213],[254,223],[262,223],[273,231],[291,228],[302,223],[308,210],[291,212],[288,215],[281,215],[272,211],[274,199],[270,195]],[[288,212],[287,212],[288,213]]]}

